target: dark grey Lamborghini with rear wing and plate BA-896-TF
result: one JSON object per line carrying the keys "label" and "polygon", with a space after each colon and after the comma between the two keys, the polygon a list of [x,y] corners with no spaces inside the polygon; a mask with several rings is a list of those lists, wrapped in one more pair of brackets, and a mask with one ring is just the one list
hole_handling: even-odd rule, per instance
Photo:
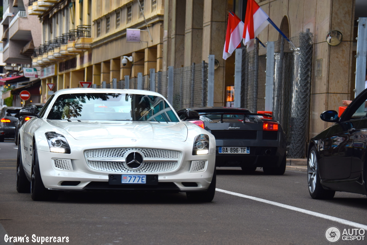
{"label": "dark grey Lamborghini with rear wing and plate BA-896-TF", "polygon": [[[199,120],[192,120],[195,113]],[[215,136],[217,167],[241,167],[247,173],[262,167],[265,174],[284,174],[286,138],[279,122],[244,108],[193,107],[177,114]]]}

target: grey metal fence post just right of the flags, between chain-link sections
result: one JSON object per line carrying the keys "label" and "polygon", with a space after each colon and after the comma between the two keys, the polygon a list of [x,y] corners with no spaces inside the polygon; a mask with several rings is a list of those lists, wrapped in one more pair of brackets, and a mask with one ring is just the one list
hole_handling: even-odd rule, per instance
{"label": "grey metal fence post just right of the flags, between chain-link sections", "polygon": [[274,47],[274,42],[266,45],[265,111],[273,111]]}

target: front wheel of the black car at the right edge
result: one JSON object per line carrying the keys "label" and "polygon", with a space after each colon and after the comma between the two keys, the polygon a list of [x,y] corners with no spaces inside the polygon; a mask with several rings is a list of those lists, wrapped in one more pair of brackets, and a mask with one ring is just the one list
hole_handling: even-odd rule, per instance
{"label": "front wheel of the black car at the right edge", "polygon": [[326,190],[320,183],[319,159],[317,149],[312,146],[307,158],[308,192],[313,199],[332,199],[335,191]]}

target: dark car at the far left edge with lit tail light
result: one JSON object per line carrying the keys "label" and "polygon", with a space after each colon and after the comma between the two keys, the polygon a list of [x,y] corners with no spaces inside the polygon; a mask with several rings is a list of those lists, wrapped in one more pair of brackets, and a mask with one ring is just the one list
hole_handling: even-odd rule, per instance
{"label": "dark car at the far left edge with lit tail light", "polygon": [[15,123],[22,107],[4,107],[0,112],[0,142],[4,142],[5,138],[14,138]]}

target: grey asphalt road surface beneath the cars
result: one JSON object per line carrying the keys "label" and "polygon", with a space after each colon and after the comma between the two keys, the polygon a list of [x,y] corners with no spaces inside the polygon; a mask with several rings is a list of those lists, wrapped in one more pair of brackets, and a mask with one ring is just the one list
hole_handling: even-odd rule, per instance
{"label": "grey asphalt road surface beneath the cars", "polygon": [[[56,244],[329,244],[328,227],[355,228],[218,191],[211,203],[149,192],[64,192],[55,202],[34,202],[15,190],[14,148],[14,142],[0,143],[0,224],[9,236],[69,237]],[[333,200],[313,200],[301,171],[271,176],[259,168],[251,175],[217,168],[217,188],[367,224],[366,196],[337,192]],[[366,240],[367,232],[364,241],[337,244]]]}

